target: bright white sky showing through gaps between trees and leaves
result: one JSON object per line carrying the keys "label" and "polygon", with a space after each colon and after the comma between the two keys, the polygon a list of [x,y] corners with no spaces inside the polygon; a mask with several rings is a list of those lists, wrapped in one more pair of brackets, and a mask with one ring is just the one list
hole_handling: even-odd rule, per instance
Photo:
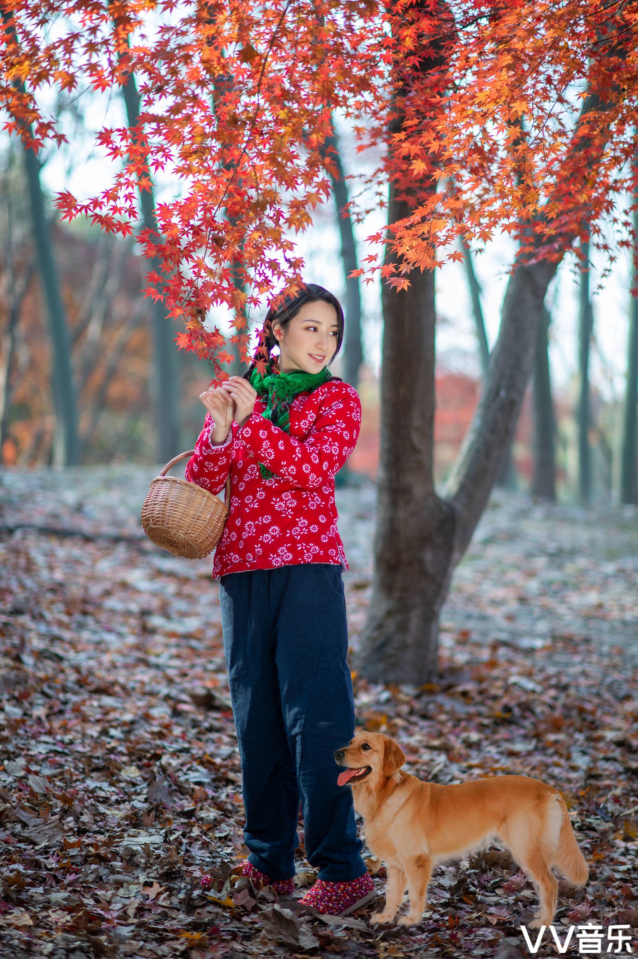
{"label": "bright white sky showing through gaps between trees and leaves", "polygon": [[[120,126],[125,123],[121,98],[96,96],[80,98],[79,111],[84,114],[87,129],[80,129],[69,119],[65,124],[71,142],[60,152],[51,153],[42,172],[43,182],[52,193],[70,189],[77,197],[92,196],[96,184],[107,185],[113,174],[112,163],[105,159],[94,145],[94,133],[104,124]],[[339,124],[343,162],[347,173],[365,173],[371,161],[354,150],[352,132]],[[183,185],[171,175],[158,177],[156,194],[159,199],[170,199]],[[355,227],[358,253],[369,251],[366,238],[384,222],[384,211],[370,215]],[[328,287],[337,296],[345,293],[345,277],[339,255],[340,241],[335,220],[334,204],[319,207],[314,225],[305,235],[297,237],[300,251],[307,263],[306,279]],[[620,399],[624,390],[628,330],[628,276],[627,252],[621,251],[604,287],[596,291],[603,264],[596,254],[591,277],[594,311],[595,343],[591,357],[592,383],[606,399]],[[475,269],[483,290],[483,310],[490,344],[498,334],[500,308],[507,285],[507,273],[513,260],[513,244],[507,237],[496,238],[475,258]],[[571,258],[558,270],[558,277],[548,297],[553,316],[551,332],[551,363],[555,386],[568,386],[577,369],[578,349],[578,285]],[[367,362],[374,368],[380,363],[381,315],[378,282],[362,285],[364,305],[364,350]],[[449,264],[437,273],[437,311],[441,323],[437,335],[439,358],[448,366],[478,373],[477,341],[473,332],[473,318],[467,291],[465,270],[461,264]],[[225,317],[214,316],[220,327]]]}

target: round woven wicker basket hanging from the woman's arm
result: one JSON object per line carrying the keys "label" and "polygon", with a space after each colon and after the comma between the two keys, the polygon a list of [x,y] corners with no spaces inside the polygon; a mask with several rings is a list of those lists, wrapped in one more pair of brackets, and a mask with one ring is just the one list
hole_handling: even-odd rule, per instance
{"label": "round woven wicker basket hanging from the woman's arm", "polygon": [[148,538],[175,556],[203,559],[215,550],[221,538],[230,503],[230,473],[226,502],[187,479],[166,474],[194,450],[180,453],[167,463],[150,484],[142,506],[142,526]]}

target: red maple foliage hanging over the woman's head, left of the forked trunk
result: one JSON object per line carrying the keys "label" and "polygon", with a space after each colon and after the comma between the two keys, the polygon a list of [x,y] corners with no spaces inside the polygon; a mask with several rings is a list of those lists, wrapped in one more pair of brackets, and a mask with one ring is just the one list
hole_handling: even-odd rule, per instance
{"label": "red maple foliage hanging over the woman's head, left of the forked trunk", "polygon": [[202,320],[211,305],[229,306],[231,344],[245,360],[245,312],[278,285],[301,281],[289,234],[308,226],[330,195],[320,148],[331,112],[371,93],[376,53],[366,27],[375,6],[18,2],[4,11],[11,31],[5,26],[0,97],[8,128],[25,136],[28,118],[37,146],[62,137],[35,101],[40,87],[74,89],[81,79],[106,90],[134,73],[137,126],[98,136],[119,163],[112,184],[81,202],[67,192],[58,207],[63,217],[84,214],[128,234],[138,183],[171,170],[185,184],[182,196],[158,203],[156,230],[140,234],[161,266],[150,271],[148,292],[172,316],[186,316],[179,345],[213,360],[217,374],[230,355]]}

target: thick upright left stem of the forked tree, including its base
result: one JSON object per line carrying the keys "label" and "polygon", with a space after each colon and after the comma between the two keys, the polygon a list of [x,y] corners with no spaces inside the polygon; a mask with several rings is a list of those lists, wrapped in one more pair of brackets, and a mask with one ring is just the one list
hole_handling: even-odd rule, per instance
{"label": "thick upright left stem of the forked tree, including its base", "polygon": [[[390,222],[407,216],[390,188]],[[435,493],[434,272],[410,287],[382,284],[380,453],[375,579],[358,661],[374,682],[420,683],[437,669],[439,609],[447,590],[455,512]]]}

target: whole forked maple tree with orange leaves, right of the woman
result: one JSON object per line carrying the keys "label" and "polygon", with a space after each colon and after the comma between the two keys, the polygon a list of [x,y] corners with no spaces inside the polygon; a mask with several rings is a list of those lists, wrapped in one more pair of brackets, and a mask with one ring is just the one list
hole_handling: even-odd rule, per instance
{"label": "whole forked maple tree with orange leaves, right of the woman", "polygon": [[[592,20],[592,5],[586,11],[577,4],[492,7],[490,18],[479,18],[472,29],[490,35],[493,45],[481,45],[483,58],[473,60],[465,58],[451,6],[418,0],[408,10],[393,9],[414,30],[412,47],[396,51],[393,70],[389,156],[398,159],[390,170],[393,242],[382,270],[375,581],[354,664],[375,682],[422,683],[438,674],[439,616],[452,573],[512,443],[548,285],[587,230],[605,245],[602,224],[614,212],[615,189],[624,176],[622,188],[630,183],[624,163],[633,149],[636,87],[629,53],[633,20],[625,17],[626,8],[595,5]],[[571,32],[548,33],[558,24],[564,31],[570,16]],[[463,62],[469,73],[459,78]],[[581,83],[582,97],[569,83],[554,85],[567,77]],[[529,115],[521,117],[523,94]],[[455,115],[465,126],[456,128]],[[458,154],[450,149],[453,141]],[[610,157],[619,164],[611,181]],[[444,183],[435,192],[439,180]],[[446,211],[440,220],[438,209]],[[623,216],[616,220],[622,227]],[[496,225],[513,233],[518,252],[483,391],[441,489],[433,469],[432,268],[440,262],[434,245],[464,234],[480,240]],[[456,250],[447,255],[460,256]]]}

